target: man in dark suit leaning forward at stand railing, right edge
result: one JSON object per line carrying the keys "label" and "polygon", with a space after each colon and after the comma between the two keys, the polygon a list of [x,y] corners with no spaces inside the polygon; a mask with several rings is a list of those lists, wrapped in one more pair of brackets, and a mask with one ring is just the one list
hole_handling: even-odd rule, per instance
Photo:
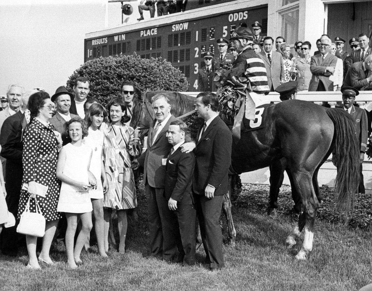
{"label": "man in dark suit leaning forward at stand railing, right edge", "polygon": [[347,71],[342,87],[354,87],[357,90],[371,90],[372,82],[372,55],[366,57],[363,62],[352,64]]}

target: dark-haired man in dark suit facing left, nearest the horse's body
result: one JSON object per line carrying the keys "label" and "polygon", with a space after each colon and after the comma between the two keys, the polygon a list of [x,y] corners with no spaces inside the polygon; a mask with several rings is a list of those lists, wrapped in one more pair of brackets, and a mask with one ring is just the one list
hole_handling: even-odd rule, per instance
{"label": "dark-haired man in dark suit facing left, nearest the horse's body", "polygon": [[195,110],[205,122],[196,135],[192,189],[206,253],[205,262],[211,271],[224,266],[219,216],[223,195],[228,191],[232,145],[231,132],[218,116],[217,109],[216,94],[203,92],[196,96]]}

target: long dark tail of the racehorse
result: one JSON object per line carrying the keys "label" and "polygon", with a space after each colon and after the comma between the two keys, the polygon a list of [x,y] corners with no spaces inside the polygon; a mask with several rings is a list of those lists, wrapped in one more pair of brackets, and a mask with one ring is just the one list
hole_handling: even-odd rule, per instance
{"label": "long dark tail of the racehorse", "polygon": [[360,179],[359,137],[356,135],[355,121],[350,114],[339,108],[328,108],[326,112],[332,119],[335,129],[332,154],[337,167],[336,202],[337,206],[348,214]]}

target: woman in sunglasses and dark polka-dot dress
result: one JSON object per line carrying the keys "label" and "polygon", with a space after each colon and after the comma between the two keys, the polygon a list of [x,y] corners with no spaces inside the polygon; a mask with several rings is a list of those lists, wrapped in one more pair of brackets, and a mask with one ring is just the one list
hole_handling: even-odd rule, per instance
{"label": "woman in sunglasses and dark polka-dot dress", "polygon": [[[61,214],[57,212],[59,183],[55,176],[58,149],[62,147],[61,134],[54,131],[49,119],[52,118],[54,103],[46,92],[37,92],[30,96],[28,109],[31,119],[23,135],[23,184],[19,198],[18,219],[25,211],[29,196],[37,199],[45,217],[45,235],[39,258],[36,257],[36,237],[26,236],[29,255],[28,268],[39,269],[39,262],[53,264],[49,250]],[[36,183],[48,186],[45,197],[36,196]],[[35,212],[35,200],[30,200],[30,211]]]}

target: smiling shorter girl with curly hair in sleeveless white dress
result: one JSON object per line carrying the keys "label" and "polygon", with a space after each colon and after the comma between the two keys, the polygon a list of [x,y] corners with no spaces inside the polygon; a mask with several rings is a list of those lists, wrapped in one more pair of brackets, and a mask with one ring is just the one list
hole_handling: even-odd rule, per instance
{"label": "smiling shorter girl with curly hair in sleeveless white dress", "polygon": [[[92,150],[82,143],[83,137],[88,134],[86,122],[80,117],[74,117],[65,123],[65,130],[72,141],[62,147],[58,156],[56,176],[62,181],[62,185],[57,211],[66,214],[67,263],[72,269],[76,269],[76,263],[81,263],[80,252],[84,241],[92,229],[89,189],[95,187],[97,181],[89,171]],[[74,249],[74,236],[79,220],[82,227]]]}

